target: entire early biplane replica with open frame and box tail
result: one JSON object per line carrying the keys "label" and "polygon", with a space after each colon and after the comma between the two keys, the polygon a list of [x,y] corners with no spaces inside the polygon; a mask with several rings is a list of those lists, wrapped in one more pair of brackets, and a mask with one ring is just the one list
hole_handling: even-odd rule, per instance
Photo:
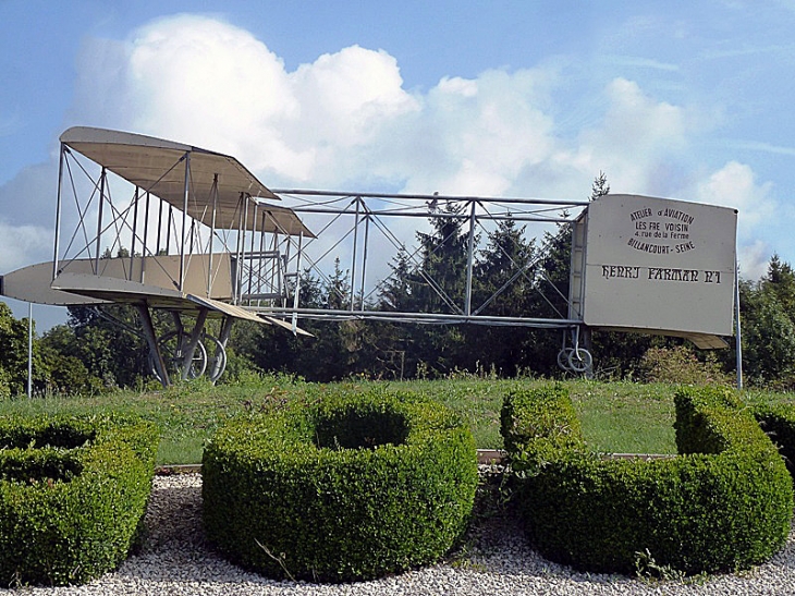
{"label": "entire early biplane replica with open frame and box tail", "polygon": [[[0,294],[100,314],[109,304],[134,306],[135,332],[163,386],[200,375],[215,382],[235,320],[304,336],[299,318],[561,329],[558,362],[578,374],[592,367],[583,338],[595,328],[682,336],[701,348],[723,346],[721,337],[733,332],[734,209],[635,195],[588,202],[271,191],[234,157],[182,143],[85,126],[66,130],[60,142],[53,259],[0,277]],[[438,208],[451,202],[462,208]],[[440,312],[368,306],[378,290],[367,277],[374,261],[383,268],[386,246],[406,251],[393,218],[462,220],[468,233],[463,302],[426,276],[444,305]],[[514,263],[504,284],[474,304],[476,232],[505,219],[562,224],[572,234],[567,312],[489,314],[497,295],[537,275],[541,256]],[[350,263],[350,303],[304,307],[303,271],[323,277],[323,261],[340,254]],[[407,254],[417,261],[417,252]],[[173,320],[161,336],[155,311]],[[220,319],[217,336],[206,328],[209,319]]]}

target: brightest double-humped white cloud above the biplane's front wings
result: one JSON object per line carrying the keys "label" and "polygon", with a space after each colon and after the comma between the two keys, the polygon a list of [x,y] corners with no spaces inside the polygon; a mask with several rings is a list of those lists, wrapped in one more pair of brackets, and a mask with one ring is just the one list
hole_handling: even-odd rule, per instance
{"label": "brightest double-humped white cloud above the biplane's front wings", "polygon": [[[126,106],[109,110],[112,124],[99,118],[103,125],[234,155],[271,185],[358,178],[374,138],[416,109],[396,60],[358,46],[289,73],[250,33],[195,15],[155,21],[123,52],[113,42],[95,46],[113,62],[103,70],[117,74],[82,80],[91,96]],[[86,65],[97,68],[97,51],[86,53]]]}

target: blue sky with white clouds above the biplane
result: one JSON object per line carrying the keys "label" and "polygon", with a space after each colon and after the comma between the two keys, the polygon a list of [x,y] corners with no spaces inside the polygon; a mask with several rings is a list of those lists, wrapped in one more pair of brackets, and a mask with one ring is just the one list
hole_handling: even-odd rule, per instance
{"label": "blue sky with white clouds above the biplane", "polygon": [[0,0],[0,273],[51,260],[86,125],[276,188],[582,200],[604,172],[738,209],[756,279],[795,263],[793,31],[795,0]]}

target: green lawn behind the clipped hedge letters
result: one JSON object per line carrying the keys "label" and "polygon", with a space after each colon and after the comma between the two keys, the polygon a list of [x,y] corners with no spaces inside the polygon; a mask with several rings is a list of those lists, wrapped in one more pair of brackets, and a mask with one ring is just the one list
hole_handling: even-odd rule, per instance
{"label": "green lawn behind the clipped hedge letters", "polygon": [[[478,448],[502,447],[500,408],[503,396],[545,380],[496,380],[464,377],[438,381],[389,382],[389,387],[421,392],[461,413]],[[366,388],[376,381],[348,381]],[[614,453],[674,453],[673,386],[662,384],[566,381],[590,449]],[[97,397],[48,397],[0,400],[0,416],[11,412],[120,412],[158,424],[162,436],[159,464],[199,463],[205,441],[229,416],[262,410],[290,399],[311,399],[327,386],[284,376],[252,378],[244,384],[212,387],[192,381],[163,391],[118,391]],[[749,402],[795,401],[793,394],[747,392]]]}

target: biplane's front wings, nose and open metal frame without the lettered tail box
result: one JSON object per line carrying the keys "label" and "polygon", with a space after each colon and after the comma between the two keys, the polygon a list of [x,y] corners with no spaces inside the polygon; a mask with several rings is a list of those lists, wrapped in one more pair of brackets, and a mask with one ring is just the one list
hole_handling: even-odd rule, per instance
{"label": "biplane's front wings, nose and open metal frame without the lettered tail box", "polygon": [[[438,193],[271,191],[230,156],[143,135],[76,127],[61,136],[52,261],[9,273],[1,287],[7,295],[28,302],[100,311],[110,303],[134,306],[140,324],[135,332],[146,340],[151,372],[163,385],[201,374],[218,379],[236,319],[304,335],[301,319],[559,329],[559,364],[587,374],[592,360],[583,316],[583,277],[589,204]],[[421,243],[417,246],[418,231],[445,219],[455,221],[455,233],[461,234],[456,241],[466,247],[465,288],[457,294],[423,269],[424,248]],[[537,246],[525,261],[511,260],[500,288],[476,300],[477,239],[507,220],[519,224],[534,243],[556,233],[573,234],[568,295],[547,283],[538,267],[545,246]],[[375,297],[391,275],[390,259],[397,254],[435,292],[438,308],[395,312],[376,306]],[[330,276],[342,275],[347,284],[344,303],[338,301],[334,308],[301,304],[307,275],[329,285]],[[496,299],[523,281],[550,304],[567,304],[566,312],[551,318],[494,314]],[[160,337],[152,323],[158,309],[169,312],[173,320],[172,329]],[[213,318],[220,319],[218,337],[206,330],[206,321]]]}

